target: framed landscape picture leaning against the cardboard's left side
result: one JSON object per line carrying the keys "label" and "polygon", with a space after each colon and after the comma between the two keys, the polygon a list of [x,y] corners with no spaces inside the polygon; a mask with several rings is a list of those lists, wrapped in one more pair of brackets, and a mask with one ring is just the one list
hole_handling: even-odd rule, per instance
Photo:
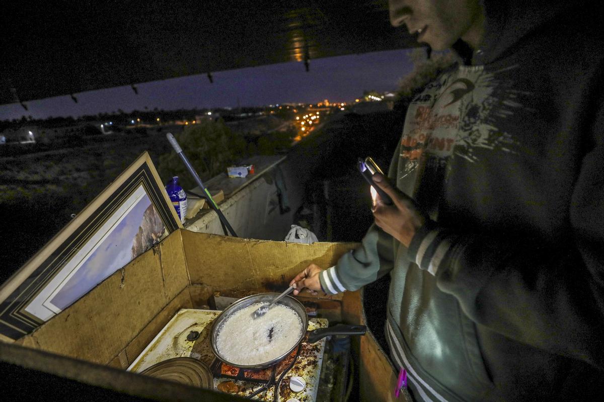
{"label": "framed landscape picture leaning against the cardboard's left side", "polygon": [[0,287],[0,336],[30,333],[178,228],[145,152]]}

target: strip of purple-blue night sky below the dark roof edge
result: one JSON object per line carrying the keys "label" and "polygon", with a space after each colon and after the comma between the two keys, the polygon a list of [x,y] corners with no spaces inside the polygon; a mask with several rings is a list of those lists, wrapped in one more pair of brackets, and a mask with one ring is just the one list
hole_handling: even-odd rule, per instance
{"label": "strip of purple-blue night sky below the dark roof edge", "polygon": [[138,95],[129,86],[57,96],[19,104],[0,105],[0,120],[32,116],[95,115],[121,109],[164,110],[261,106],[286,102],[351,102],[363,90],[396,90],[397,81],[412,69],[410,49],[322,58],[310,61],[310,71],[299,62],[191,75],[171,80],[137,84]]}

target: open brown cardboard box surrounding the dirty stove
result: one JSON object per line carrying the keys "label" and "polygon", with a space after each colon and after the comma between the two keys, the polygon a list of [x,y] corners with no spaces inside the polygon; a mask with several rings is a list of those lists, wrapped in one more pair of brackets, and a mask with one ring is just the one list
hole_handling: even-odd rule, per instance
{"label": "open brown cardboard box surrounding the dirty stove", "polygon": [[[11,378],[16,367],[27,378],[43,374],[39,392],[47,396],[57,384],[62,392],[77,392],[78,399],[102,391],[156,400],[242,400],[125,369],[179,309],[207,304],[214,292],[243,297],[285,289],[309,263],[333,265],[353,247],[355,243],[306,245],[176,230],[33,333],[10,344],[0,342],[0,365],[13,373]],[[342,321],[364,322],[359,292],[317,300],[338,304]],[[370,334],[356,342],[363,397],[390,399],[396,383],[390,363]],[[10,381],[21,386],[19,378]],[[31,397],[35,390],[24,384],[23,392]]]}

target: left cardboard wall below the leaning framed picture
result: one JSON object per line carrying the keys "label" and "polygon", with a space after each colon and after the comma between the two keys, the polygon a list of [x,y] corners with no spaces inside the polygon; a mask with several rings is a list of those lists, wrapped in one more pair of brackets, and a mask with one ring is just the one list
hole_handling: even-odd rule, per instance
{"label": "left cardboard wall below the leaning framed picture", "polygon": [[188,283],[185,269],[175,269],[184,260],[178,256],[182,248],[175,247],[179,237],[179,231],[172,233],[173,242],[142,254],[17,342],[89,362],[112,362],[172,300],[176,284]]}

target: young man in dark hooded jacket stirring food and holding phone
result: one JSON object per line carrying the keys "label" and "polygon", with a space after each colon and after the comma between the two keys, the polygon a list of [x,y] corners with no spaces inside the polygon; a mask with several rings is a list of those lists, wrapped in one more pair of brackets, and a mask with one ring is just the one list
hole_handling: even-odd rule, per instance
{"label": "young man in dark hooded jacket stirring food and holding phone", "polygon": [[[411,103],[376,224],[326,293],[391,275],[391,359],[422,401],[604,395],[604,34],[588,2],[390,1],[463,62]],[[390,184],[391,183],[391,184]]]}

